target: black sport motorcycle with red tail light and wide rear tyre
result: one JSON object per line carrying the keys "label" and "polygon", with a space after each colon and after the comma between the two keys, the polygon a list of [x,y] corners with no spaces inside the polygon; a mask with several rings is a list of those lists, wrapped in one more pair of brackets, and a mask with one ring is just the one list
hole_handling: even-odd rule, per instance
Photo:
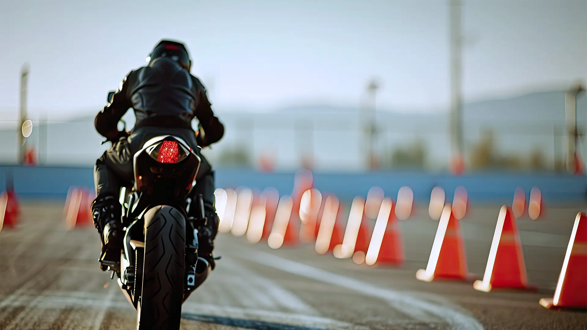
{"label": "black sport motorcycle with red tail light and wide rear tyre", "polygon": [[[179,329],[183,302],[211,271],[208,261],[198,257],[198,231],[207,222],[203,198],[187,198],[200,162],[179,137],[154,137],[134,154],[133,186],[120,190],[120,262],[100,262],[137,310],[139,330]],[[187,217],[191,207],[198,207],[197,218]]]}

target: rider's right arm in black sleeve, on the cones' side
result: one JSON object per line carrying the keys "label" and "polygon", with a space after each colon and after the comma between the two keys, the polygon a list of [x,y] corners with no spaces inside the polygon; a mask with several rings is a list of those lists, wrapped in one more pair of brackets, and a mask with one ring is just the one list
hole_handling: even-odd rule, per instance
{"label": "rider's right arm in black sleeve, on the cones' side", "polygon": [[198,98],[198,105],[195,108],[194,115],[200,121],[200,125],[204,129],[204,139],[198,135],[198,144],[201,146],[210,146],[210,144],[218,142],[224,136],[224,125],[214,116],[210,100],[206,93],[204,85],[198,78],[192,76],[194,80],[195,95]]}

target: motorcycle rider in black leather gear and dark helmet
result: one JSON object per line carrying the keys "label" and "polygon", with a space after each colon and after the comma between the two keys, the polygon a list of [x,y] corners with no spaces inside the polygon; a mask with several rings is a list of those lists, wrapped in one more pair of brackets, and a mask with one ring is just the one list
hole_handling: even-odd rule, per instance
{"label": "motorcycle rider in black leather gear and dark helmet", "polygon": [[[183,43],[160,41],[147,62],[147,66],[126,75],[94,121],[96,131],[112,142],[94,167],[96,199],[92,215],[102,236],[102,270],[106,265],[120,264],[124,231],[118,196],[120,187],[133,181],[133,156],[147,140],[165,134],[180,137],[201,158],[196,184],[188,198],[195,201],[195,197],[203,195],[207,226],[198,234],[198,255],[214,269],[212,250],[219,224],[214,207],[214,171],[200,147],[218,142],[224,135],[224,125],[214,116],[204,85],[190,74],[190,55]],[[134,110],[136,124],[131,132],[119,132],[117,124],[129,108]],[[194,117],[200,122],[198,132],[191,127]],[[197,207],[190,207],[188,217],[198,218]]]}

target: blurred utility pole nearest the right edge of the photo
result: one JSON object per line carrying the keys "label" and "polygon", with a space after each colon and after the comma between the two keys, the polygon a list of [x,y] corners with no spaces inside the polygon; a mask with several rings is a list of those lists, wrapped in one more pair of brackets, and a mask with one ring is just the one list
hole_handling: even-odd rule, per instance
{"label": "blurred utility pole nearest the right edge of the photo", "polygon": [[582,83],[577,83],[565,93],[565,118],[566,118],[566,165],[569,172],[582,174],[581,156],[577,150],[577,96],[585,91]]}

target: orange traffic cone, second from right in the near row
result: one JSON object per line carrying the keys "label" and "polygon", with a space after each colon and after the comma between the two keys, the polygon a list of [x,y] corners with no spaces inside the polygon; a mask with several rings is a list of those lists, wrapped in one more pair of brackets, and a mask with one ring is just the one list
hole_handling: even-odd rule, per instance
{"label": "orange traffic cone, second from right in the near row", "polygon": [[485,292],[492,288],[536,289],[528,284],[518,225],[509,206],[501,207],[483,281],[475,281],[473,288]]}

